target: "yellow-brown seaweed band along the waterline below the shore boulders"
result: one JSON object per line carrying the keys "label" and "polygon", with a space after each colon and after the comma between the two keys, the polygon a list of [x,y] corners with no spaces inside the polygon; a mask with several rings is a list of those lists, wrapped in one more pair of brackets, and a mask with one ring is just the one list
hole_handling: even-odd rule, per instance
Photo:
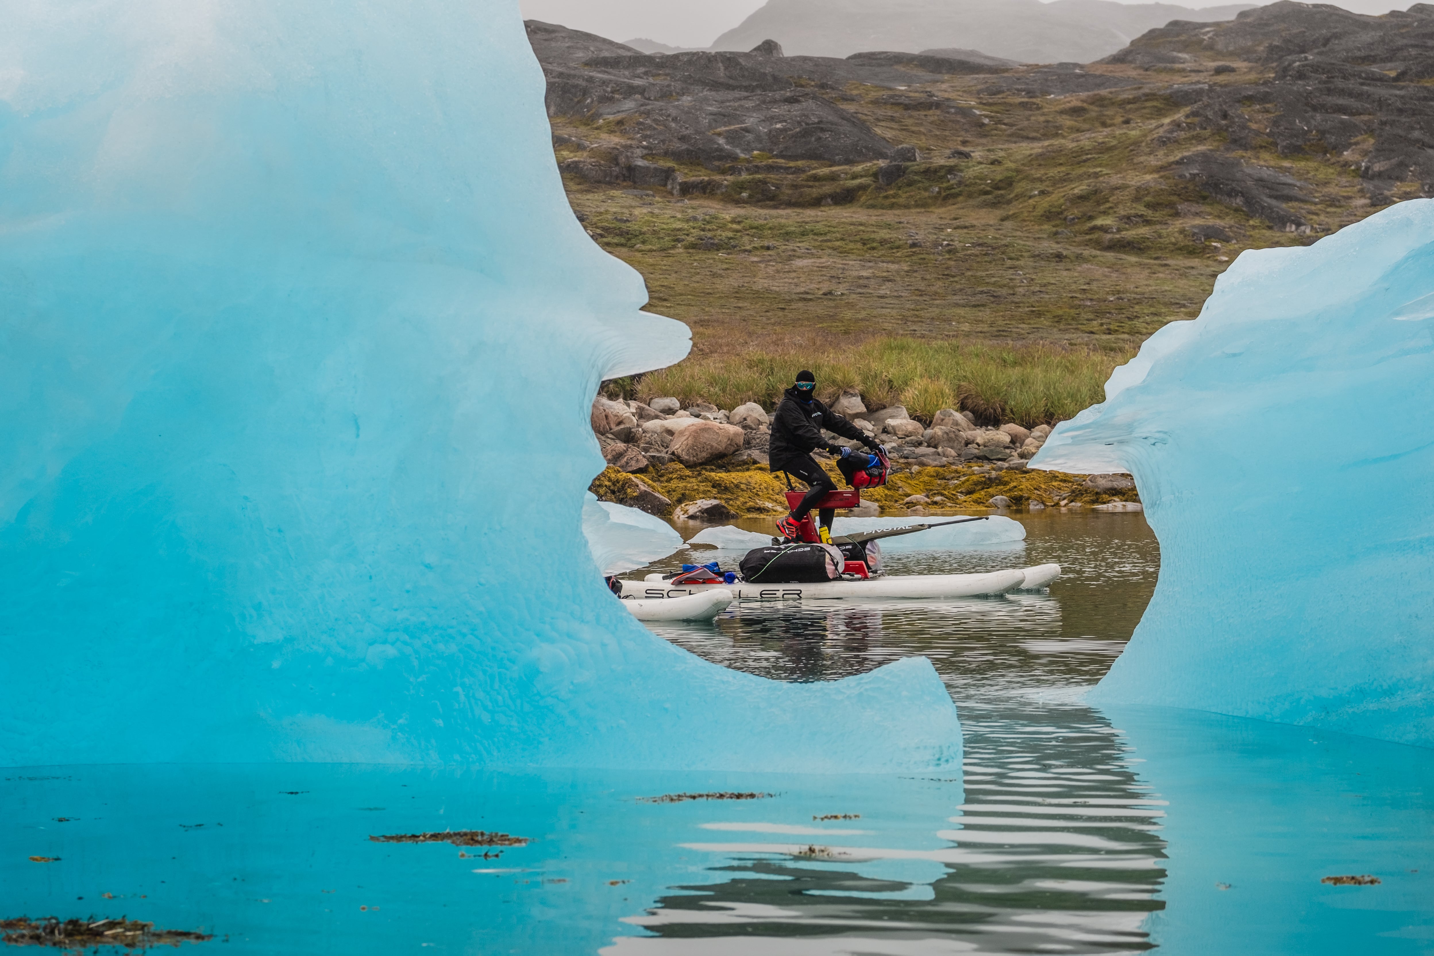
{"label": "yellow-brown seaweed band along the waterline below the shore boulders", "polygon": [[[833,463],[823,462],[822,466],[836,479],[837,486],[845,487]],[[903,470],[892,474],[883,487],[863,490],[862,497],[875,502],[883,512],[903,512],[902,503],[912,494],[932,499],[929,506],[932,509],[984,509],[989,507],[991,499],[998,494],[1008,497],[1017,507],[1031,502],[1051,506],[1061,502],[1106,505],[1107,502],[1140,500],[1133,490],[1108,494],[1088,489],[1084,474],[1035,470],[979,474],[978,472],[984,467],[981,464],[959,464],[919,467],[915,472]],[[635,477],[671,500],[674,506],[714,497],[743,517],[777,516],[787,510],[782,496],[786,490],[786,482],[760,464],[717,463],[688,469],[674,462],[673,464],[654,466]],[[793,487],[802,489],[803,484],[794,482]],[[608,467],[592,482],[591,490],[605,502],[627,505],[632,502],[635,494],[634,476]],[[944,500],[938,500],[938,497]]]}

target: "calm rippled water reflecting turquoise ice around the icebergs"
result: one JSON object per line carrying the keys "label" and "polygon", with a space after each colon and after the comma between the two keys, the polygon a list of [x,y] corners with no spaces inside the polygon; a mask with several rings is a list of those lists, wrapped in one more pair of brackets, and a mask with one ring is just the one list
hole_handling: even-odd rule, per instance
{"label": "calm rippled water reflecting turquoise ice around the icebergs", "polygon": [[[1018,517],[1021,546],[889,569],[1057,560],[1048,595],[654,626],[787,681],[926,655],[961,711],[959,777],[6,771],[0,917],[128,913],[225,953],[1434,953],[1434,752],[1081,705],[1159,548],[1139,515]],[[641,800],[710,790],[773,795]],[[367,840],[446,827],[533,841],[482,859]],[[1381,881],[1321,883],[1344,874]]]}

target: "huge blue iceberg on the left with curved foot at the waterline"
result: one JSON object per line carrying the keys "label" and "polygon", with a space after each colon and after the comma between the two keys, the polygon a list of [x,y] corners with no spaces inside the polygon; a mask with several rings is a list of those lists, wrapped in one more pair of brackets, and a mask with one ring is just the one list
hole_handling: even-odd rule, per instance
{"label": "huge blue iceberg on the left with curved foot at the waterline", "polygon": [[0,764],[896,770],[931,665],[648,635],[581,533],[598,381],[683,325],[566,205],[512,0],[16,0]]}

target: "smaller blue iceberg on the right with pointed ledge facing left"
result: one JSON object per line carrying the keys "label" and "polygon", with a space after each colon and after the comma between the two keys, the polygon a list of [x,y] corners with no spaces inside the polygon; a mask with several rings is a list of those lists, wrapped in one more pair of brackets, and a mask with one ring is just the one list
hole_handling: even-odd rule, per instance
{"label": "smaller blue iceberg on the right with pointed ledge facing left", "polygon": [[1434,201],[1243,252],[1035,467],[1130,470],[1160,582],[1093,702],[1434,747]]}

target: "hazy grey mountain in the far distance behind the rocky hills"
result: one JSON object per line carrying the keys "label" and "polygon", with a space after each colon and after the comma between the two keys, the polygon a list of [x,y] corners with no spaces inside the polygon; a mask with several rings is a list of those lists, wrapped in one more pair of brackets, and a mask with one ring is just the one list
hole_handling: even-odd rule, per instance
{"label": "hazy grey mountain in the far distance behind the rocky hills", "polygon": [[773,39],[789,54],[975,47],[1021,63],[1088,63],[1172,20],[1229,20],[1250,4],[1192,10],[1111,0],[767,0],[714,50]]}

